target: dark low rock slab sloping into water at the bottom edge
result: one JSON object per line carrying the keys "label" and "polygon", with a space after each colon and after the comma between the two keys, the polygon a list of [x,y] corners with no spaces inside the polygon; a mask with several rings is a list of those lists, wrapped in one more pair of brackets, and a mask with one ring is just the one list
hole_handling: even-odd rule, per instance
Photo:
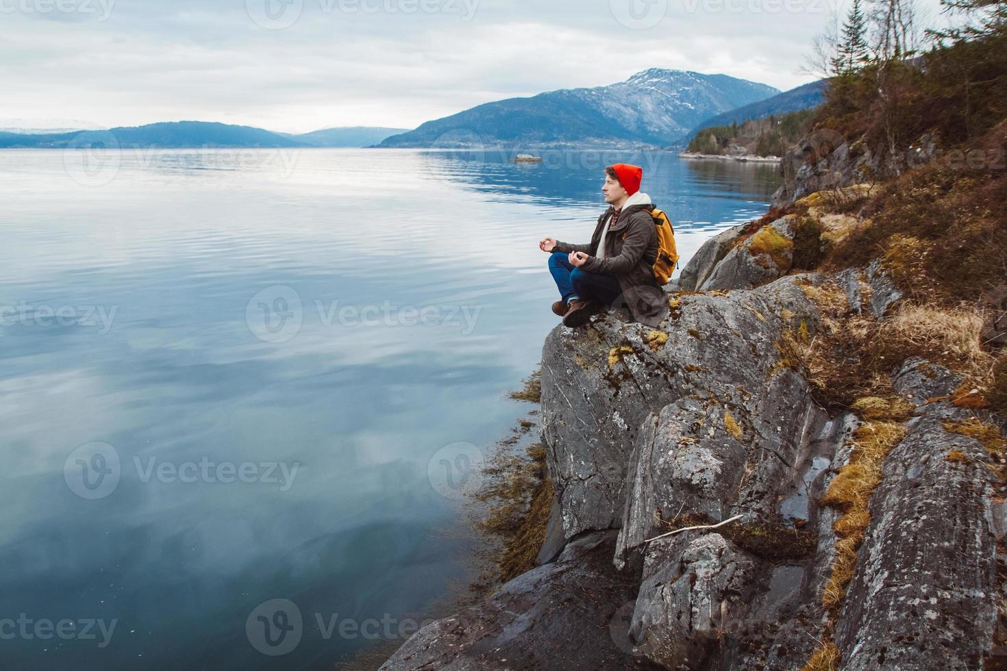
{"label": "dark low rock slab sloping into water at the bottom edge", "polygon": [[612,532],[572,541],[555,562],[421,629],[381,671],[660,669],[624,644],[628,624],[616,615],[639,578],[612,568],[613,541]]}

